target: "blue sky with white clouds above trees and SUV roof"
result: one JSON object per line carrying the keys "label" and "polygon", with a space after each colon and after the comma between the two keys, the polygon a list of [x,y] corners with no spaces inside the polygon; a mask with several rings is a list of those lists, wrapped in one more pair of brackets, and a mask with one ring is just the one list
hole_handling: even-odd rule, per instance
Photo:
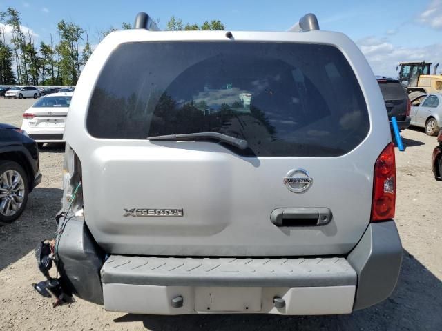
{"label": "blue sky with white clouds above trees and SUV roof", "polygon": [[285,31],[303,14],[316,14],[321,30],[347,34],[361,48],[374,74],[397,77],[401,61],[441,62],[442,0],[371,1],[21,1],[0,0],[0,11],[12,6],[37,42],[57,35],[61,19],[88,32],[93,44],[98,31],[122,22],[133,23],[137,12],[147,12],[164,29],[170,17],[183,23],[220,19],[227,30]]}

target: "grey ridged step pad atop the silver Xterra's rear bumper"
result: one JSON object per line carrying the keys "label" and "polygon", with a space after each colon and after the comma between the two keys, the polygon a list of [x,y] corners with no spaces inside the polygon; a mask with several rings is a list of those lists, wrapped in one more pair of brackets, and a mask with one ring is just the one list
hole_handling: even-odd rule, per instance
{"label": "grey ridged step pad atop the silver Xterra's rear bumper", "polygon": [[178,258],[112,255],[104,284],[156,286],[317,287],[356,285],[344,258]]}

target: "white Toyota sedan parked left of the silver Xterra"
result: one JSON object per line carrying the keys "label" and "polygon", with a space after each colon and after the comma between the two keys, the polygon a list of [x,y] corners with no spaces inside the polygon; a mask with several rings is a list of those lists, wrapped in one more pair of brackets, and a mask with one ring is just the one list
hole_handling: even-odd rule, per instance
{"label": "white Toyota sedan parked left of the silver Xterra", "polygon": [[29,137],[43,143],[64,142],[64,124],[68,115],[72,92],[48,94],[41,97],[23,113],[21,129],[28,132]]}

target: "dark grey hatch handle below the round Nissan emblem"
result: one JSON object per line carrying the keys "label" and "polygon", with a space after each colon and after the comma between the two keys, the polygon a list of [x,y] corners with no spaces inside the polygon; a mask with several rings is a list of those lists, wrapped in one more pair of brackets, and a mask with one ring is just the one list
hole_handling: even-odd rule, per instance
{"label": "dark grey hatch handle below the round Nissan emblem", "polygon": [[329,208],[276,208],[270,214],[276,226],[316,226],[332,220]]}

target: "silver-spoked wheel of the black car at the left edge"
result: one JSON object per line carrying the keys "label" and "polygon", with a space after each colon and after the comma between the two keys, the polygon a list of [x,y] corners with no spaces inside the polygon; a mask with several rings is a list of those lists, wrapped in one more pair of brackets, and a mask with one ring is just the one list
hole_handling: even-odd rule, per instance
{"label": "silver-spoked wheel of the black car at the left edge", "polygon": [[0,223],[15,221],[28,202],[29,183],[25,170],[15,161],[0,163]]}

